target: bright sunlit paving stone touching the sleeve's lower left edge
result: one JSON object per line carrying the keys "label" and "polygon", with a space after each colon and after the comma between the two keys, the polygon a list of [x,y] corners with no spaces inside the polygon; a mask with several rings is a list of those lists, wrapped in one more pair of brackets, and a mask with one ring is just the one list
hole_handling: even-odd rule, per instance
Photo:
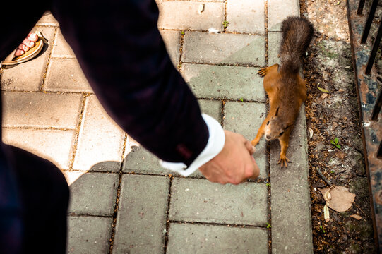
{"label": "bright sunlit paving stone touching the sleeve's lower left edge", "polygon": [[117,126],[95,95],[85,102],[73,169],[88,170],[100,162],[114,163],[119,169],[124,145],[124,131]]}

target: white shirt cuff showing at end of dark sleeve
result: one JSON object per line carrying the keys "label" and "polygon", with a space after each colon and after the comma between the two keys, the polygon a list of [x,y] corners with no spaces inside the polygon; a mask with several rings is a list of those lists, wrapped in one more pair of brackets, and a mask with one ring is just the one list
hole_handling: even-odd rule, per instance
{"label": "white shirt cuff showing at end of dark sleeve", "polygon": [[211,116],[208,116],[207,114],[202,114],[202,116],[205,124],[207,124],[210,137],[208,138],[208,143],[205,145],[201,154],[196,157],[189,167],[187,167],[183,162],[164,162],[160,160],[160,165],[162,167],[176,171],[182,176],[189,176],[196,171],[196,169],[201,167],[206,162],[209,162],[210,159],[213,159],[213,157],[222,151],[225,144],[225,133],[222,126]]}

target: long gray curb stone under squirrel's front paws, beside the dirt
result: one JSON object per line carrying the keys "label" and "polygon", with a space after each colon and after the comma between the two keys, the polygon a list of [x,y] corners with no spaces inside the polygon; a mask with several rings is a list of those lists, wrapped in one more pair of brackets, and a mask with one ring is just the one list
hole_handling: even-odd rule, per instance
{"label": "long gray curb stone under squirrel's front paws, beside the dirt", "polygon": [[290,138],[287,169],[277,165],[280,145],[270,143],[272,253],[313,253],[306,123],[302,108]]}

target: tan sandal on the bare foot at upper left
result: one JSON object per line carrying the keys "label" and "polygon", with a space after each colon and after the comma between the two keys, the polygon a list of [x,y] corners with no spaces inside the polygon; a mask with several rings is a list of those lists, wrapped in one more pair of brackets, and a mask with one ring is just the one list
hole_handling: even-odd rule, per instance
{"label": "tan sandal on the bare foot at upper left", "polygon": [[44,35],[42,35],[41,32],[37,31],[34,33],[38,36],[38,39],[35,42],[35,46],[30,48],[27,52],[25,52],[21,56],[14,56],[16,49],[13,50],[13,52],[9,54],[9,56],[7,56],[6,59],[4,59],[4,61],[0,62],[0,66],[1,65],[12,66],[18,63],[24,63],[25,61],[29,61],[30,59],[33,59],[35,56],[37,56],[37,54],[39,54],[42,48],[44,47],[44,42],[47,43],[47,40],[45,39]]}

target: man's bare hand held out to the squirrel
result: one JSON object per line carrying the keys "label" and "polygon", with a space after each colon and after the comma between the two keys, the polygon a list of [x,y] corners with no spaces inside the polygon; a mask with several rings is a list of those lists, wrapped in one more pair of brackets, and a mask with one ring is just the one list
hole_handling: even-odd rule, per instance
{"label": "man's bare hand held out to the squirrel", "polygon": [[239,184],[256,179],[258,166],[252,154],[255,148],[242,135],[225,131],[223,150],[199,168],[206,179],[214,183]]}

